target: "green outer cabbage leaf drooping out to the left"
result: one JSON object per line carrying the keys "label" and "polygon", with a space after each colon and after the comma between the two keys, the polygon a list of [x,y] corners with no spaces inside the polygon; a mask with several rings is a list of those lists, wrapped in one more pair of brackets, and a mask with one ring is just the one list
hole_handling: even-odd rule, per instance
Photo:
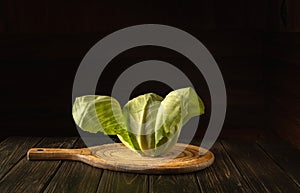
{"label": "green outer cabbage leaf drooping out to the left", "polygon": [[72,109],[75,123],[90,133],[118,135],[124,144],[135,150],[126,128],[119,102],[109,96],[87,95],[75,99]]}

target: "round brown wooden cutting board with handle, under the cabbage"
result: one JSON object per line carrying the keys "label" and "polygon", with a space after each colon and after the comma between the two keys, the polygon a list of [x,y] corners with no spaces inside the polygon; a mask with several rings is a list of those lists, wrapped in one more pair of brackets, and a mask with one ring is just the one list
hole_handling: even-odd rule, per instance
{"label": "round brown wooden cutting board with handle, under the cabbage", "polygon": [[[205,152],[204,155],[201,155]],[[120,143],[81,149],[32,148],[28,160],[76,160],[94,167],[143,174],[179,174],[202,170],[214,162],[211,151],[177,143],[167,154],[143,157]]]}

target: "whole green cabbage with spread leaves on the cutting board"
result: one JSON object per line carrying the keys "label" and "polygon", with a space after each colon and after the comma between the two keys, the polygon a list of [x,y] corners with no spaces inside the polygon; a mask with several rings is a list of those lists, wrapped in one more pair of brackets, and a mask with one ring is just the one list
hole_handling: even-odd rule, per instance
{"label": "whole green cabbage with spread leaves on the cutting board", "polygon": [[183,125],[204,113],[204,104],[188,87],[172,91],[164,99],[154,93],[140,95],[123,109],[109,96],[82,96],[76,98],[72,113],[84,131],[117,135],[131,150],[159,156],[176,144]]}

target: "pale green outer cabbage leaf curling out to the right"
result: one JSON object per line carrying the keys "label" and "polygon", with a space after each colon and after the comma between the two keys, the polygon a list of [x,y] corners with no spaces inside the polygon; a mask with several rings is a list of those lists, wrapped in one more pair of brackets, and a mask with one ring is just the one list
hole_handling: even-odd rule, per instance
{"label": "pale green outer cabbage leaf curling out to the right", "polygon": [[176,144],[181,128],[192,117],[203,113],[204,104],[194,89],[188,87],[170,92],[161,102],[156,117],[156,155],[170,150]]}

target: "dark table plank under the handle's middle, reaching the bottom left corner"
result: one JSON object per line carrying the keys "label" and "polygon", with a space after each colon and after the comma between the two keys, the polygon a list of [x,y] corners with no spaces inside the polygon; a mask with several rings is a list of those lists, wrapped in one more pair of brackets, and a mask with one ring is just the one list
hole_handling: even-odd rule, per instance
{"label": "dark table plank under the handle's middle, reaching the bottom left corner", "polygon": [[[72,147],[77,138],[44,138],[37,147]],[[24,151],[26,153],[26,151]],[[20,160],[1,180],[1,192],[39,192],[55,174],[61,161]]]}

